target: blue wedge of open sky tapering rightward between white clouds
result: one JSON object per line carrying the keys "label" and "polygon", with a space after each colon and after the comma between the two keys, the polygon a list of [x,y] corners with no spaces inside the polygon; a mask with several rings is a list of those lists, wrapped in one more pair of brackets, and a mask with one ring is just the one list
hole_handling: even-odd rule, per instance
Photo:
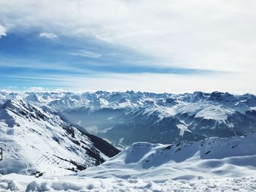
{"label": "blue wedge of open sky tapering rightward between white clouds", "polygon": [[[1,88],[58,88],[59,81],[65,81],[63,78],[97,78],[102,74],[214,73],[212,70],[154,66],[153,62],[160,61],[128,48],[108,45],[97,39],[60,37],[39,31],[2,37],[0,51],[4,79]],[[61,85],[61,88],[70,87]]]}

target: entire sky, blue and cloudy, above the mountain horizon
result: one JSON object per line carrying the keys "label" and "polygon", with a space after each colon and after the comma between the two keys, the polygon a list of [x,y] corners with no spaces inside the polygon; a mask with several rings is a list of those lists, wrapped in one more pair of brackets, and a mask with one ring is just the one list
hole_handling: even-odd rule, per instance
{"label": "entire sky, blue and cloudy, above the mountain horizon", "polygon": [[256,93],[254,0],[0,0],[1,91]]}

